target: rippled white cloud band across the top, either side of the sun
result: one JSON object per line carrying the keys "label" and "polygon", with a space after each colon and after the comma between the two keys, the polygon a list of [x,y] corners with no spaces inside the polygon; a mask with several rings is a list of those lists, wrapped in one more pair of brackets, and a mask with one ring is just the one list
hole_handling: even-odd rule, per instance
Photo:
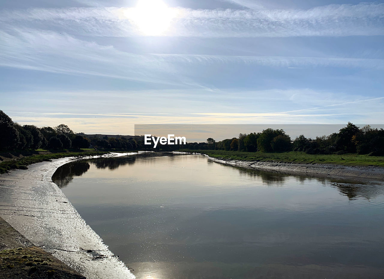
{"label": "rippled white cloud band across the top, either side of the sun", "polygon": [[[134,8],[64,8],[3,11],[0,22],[44,26],[93,36],[137,36]],[[384,34],[384,4],[326,5],[308,10],[191,10],[175,14],[166,36],[290,37]]]}

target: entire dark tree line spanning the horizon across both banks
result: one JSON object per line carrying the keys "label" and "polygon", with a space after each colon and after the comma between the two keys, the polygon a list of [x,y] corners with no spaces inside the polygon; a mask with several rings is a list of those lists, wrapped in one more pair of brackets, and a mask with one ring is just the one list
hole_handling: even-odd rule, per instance
{"label": "entire dark tree line spanning the horizon across both banks", "polygon": [[[86,138],[84,133],[75,134],[67,125],[56,127],[41,127],[35,125],[19,125],[0,110],[0,150],[36,150],[39,148],[69,149],[88,148],[92,146],[99,150],[121,149],[138,150],[153,149],[145,145],[144,139],[117,137]],[[84,135],[84,136],[83,136]],[[301,151],[308,154],[345,154],[358,153],[375,156],[384,155],[384,130],[366,125],[362,128],[348,122],[339,130],[328,136],[306,138],[300,135],[291,140],[284,130],[271,128],[261,132],[239,134],[237,138],[215,141],[208,138],[206,142],[175,145],[158,145],[155,150],[172,151],[180,148],[194,150],[226,150],[247,152],[286,152]]]}

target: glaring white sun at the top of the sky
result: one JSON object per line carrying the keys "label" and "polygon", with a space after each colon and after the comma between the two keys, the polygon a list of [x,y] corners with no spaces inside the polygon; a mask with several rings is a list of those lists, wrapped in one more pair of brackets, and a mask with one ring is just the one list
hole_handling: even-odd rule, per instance
{"label": "glaring white sun at the top of the sky", "polygon": [[174,11],[162,0],[139,0],[130,18],[142,34],[159,36],[169,28]]}

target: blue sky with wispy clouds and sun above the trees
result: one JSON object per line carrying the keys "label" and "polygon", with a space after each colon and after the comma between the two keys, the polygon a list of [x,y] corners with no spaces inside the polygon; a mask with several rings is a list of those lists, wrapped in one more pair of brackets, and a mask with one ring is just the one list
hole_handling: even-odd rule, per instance
{"label": "blue sky with wispy clouds and sun above the trees", "polygon": [[22,125],[382,124],[384,3],[5,0],[0,110]]}

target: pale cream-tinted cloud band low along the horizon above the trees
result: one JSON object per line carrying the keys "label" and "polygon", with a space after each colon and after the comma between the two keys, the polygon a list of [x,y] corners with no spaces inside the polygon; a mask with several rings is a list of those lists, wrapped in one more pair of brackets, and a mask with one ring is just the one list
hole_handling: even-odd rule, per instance
{"label": "pale cream-tinted cloud band low along the horizon above the trees", "polygon": [[354,123],[377,123],[379,115],[356,115],[354,113],[199,113],[198,115],[136,115],[135,117],[52,117],[30,113],[9,113],[13,121],[20,124],[36,126],[57,126],[65,123],[76,132],[109,133],[133,135],[134,125],[139,124],[340,124],[348,121]]}

